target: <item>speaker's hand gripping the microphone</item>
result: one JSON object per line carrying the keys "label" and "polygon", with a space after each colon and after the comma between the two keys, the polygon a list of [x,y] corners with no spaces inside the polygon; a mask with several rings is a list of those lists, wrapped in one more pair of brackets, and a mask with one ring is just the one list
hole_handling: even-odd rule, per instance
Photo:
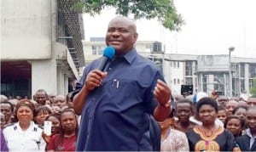
{"label": "speaker's hand gripping the microphone", "polygon": [[102,79],[108,75],[108,72],[102,72],[101,70],[91,70],[86,76],[85,87],[87,91],[92,91],[96,87],[102,85]]}

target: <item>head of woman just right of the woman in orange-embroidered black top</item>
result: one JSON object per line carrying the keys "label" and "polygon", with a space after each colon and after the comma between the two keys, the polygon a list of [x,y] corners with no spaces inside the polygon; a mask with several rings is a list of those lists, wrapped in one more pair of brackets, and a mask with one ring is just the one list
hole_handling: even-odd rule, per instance
{"label": "head of woman just right of the woman in orange-embroidered black top", "polygon": [[229,115],[224,122],[224,128],[233,133],[234,138],[241,136],[241,132],[245,127],[245,121],[238,115]]}

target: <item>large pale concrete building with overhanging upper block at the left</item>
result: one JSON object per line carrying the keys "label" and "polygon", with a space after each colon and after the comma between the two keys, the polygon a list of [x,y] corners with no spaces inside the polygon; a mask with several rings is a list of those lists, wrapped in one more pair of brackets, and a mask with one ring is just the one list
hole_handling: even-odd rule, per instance
{"label": "large pale concrete building with overhanging upper block at the left", "polygon": [[[79,0],[1,0],[1,93],[66,95],[84,66]],[[68,89],[69,87],[69,89]]]}

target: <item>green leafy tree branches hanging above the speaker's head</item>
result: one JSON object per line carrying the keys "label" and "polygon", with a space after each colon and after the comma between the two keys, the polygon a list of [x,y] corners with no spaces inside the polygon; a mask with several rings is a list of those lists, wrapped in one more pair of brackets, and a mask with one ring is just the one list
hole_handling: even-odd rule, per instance
{"label": "green leafy tree branches hanging above the speaker's head", "polygon": [[135,20],[157,19],[170,31],[179,31],[184,23],[172,0],[79,0],[73,8],[92,16],[101,14],[104,8],[116,8],[116,14],[134,14]]}

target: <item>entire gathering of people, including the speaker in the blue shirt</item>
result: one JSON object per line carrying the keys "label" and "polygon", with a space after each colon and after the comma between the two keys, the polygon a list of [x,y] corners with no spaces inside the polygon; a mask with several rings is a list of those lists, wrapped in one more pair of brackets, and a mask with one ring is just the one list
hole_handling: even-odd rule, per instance
{"label": "entire gathering of people, including the speaker in the blue shirt", "polygon": [[1,151],[256,150],[256,96],[174,95],[159,67],[137,53],[137,37],[133,20],[115,17],[106,71],[96,59],[67,96],[44,89],[33,99],[1,95]]}

